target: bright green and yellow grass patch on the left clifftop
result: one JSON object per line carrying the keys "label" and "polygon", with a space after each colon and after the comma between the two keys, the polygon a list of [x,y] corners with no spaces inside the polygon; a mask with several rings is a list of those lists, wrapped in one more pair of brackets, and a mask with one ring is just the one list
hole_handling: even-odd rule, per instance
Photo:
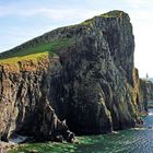
{"label": "bright green and yellow grass patch on the left clifftop", "polygon": [[42,43],[17,51],[5,51],[0,55],[0,63],[15,63],[23,60],[38,60],[44,57],[54,57],[60,49],[72,46],[72,39],[58,39],[51,43]]}

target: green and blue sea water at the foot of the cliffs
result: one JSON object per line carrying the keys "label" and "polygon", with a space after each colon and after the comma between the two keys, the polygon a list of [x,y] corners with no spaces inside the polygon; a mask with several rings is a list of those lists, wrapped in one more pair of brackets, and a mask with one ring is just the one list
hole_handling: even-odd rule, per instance
{"label": "green and blue sea water at the foot of the cliffs", "polygon": [[9,153],[153,153],[153,108],[143,120],[143,128],[78,137],[79,144],[27,143]]}

